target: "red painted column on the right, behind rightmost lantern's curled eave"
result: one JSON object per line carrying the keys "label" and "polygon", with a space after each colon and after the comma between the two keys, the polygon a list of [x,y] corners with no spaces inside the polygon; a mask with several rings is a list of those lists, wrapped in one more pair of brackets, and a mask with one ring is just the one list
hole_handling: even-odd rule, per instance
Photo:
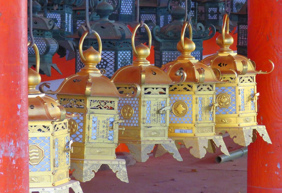
{"label": "red painted column on the right, behind rightmost lantern's curled eave", "polygon": [[274,71],[257,75],[258,122],[266,125],[272,141],[261,137],[248,147],[248,193],[282,192],[282,1],[248,0],[248,57],[257,69]]}

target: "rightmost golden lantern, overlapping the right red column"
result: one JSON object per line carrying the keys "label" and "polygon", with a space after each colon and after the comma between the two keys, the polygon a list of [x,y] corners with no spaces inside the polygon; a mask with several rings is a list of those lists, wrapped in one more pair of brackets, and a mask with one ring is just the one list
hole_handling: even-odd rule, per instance
{"label": "rightmost golden lantern, overlapping the right red column", "polygon": [[[225,30],[225,27],[227,29]],[[232,80],[232,83],[216,84],[216,132],[227,130],[234,142],[247,146],[256,139],[256,131],[263,139],[271,143],[264,125],[257,123],[257,100],[259,93],[256,89],[256,74],[268,74],[270,72],[257,71],[255,63],[243,55],[234,53],[229,48],[233,44],[233,38],[229,34],[229,18],[224,15],[222,34],[217,37],[217,45],[220,49],[202,60],[212,69],[221,72],[222,79]],[[238,76],[230,74],[230,69]]]}

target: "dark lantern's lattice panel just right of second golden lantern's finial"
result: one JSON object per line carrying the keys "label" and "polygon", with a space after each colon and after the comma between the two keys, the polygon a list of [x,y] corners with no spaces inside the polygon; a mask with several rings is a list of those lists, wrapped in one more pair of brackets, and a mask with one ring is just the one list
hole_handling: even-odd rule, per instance
{"label": "dark lantern's lattice panel just right of second golden lantern's finial", "polygon": [[104,76],[112,77],[115,72],[115,52],[114,51],[102,51],[101,62],[97,64],[98,69],[105,69],[106,74]]}

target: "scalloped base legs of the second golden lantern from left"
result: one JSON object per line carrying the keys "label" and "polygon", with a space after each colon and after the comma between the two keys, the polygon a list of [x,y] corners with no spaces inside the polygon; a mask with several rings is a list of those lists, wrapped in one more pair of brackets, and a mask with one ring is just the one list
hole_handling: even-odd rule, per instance
{"label": "scalloped base legs of the second golden lantern from left", "polygon": [[116,174],[117,178],[123,182],[128,182],[126,162],[124,159],[115,160],[82,160],[71,159],[70,169],[74,170],[72,175],[81,182],[91,180],[102,164],[107,164]]}

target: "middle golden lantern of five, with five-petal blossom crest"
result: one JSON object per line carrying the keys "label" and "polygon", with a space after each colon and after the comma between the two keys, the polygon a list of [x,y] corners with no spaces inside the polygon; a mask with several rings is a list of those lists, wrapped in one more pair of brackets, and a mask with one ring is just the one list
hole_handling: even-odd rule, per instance
{"label": "middle golden lantern of five, with five-petal blossom crest", "polygon": [[120,93],[130,93],[131,84],[140,85],[141,94],[134,98],[120,98],[118,111],[124,120],[125,130],[119,131],[118,142],[125,143],[137,161],[145,162],[154,146],[162,146],[179,161],[182,158],[173,140],[167,136],[170,100],[168,87],[171,79],[146,59],[150,54],[152,37],[149,27],[143,24],[149,36],[149,48],[143,44],[134,46],[134,34],[141,26],[135,26],[132,47],[137,58],[132,65],[120,68],[112,76]]}

